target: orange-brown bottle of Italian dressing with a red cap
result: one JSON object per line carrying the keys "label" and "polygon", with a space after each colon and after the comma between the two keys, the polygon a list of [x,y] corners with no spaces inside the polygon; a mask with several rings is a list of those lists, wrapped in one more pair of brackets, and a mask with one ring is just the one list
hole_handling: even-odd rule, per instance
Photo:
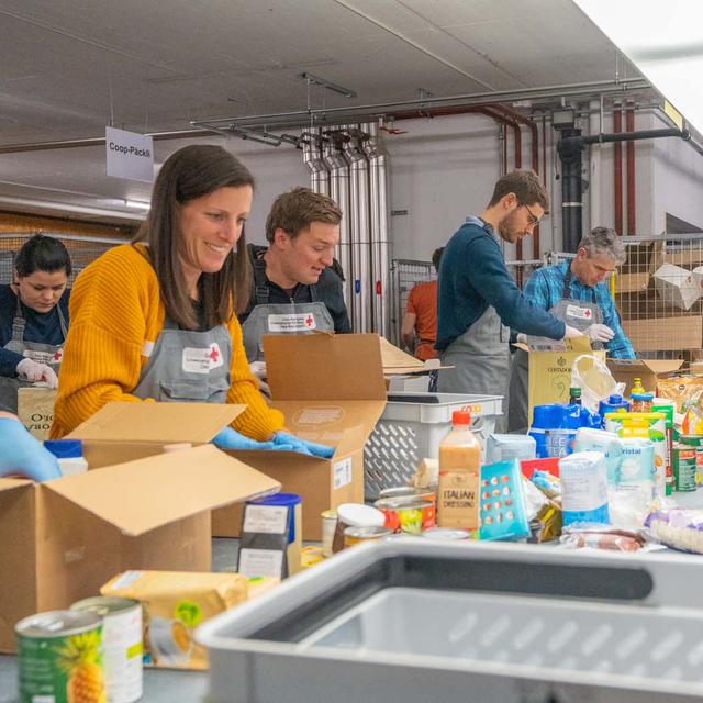
{"label": "orange-brown bottle of Italian dressing with a red cap", "polygon": [[471,413],[455,410],[451,429],[439,443],[437,523],[440,527],[478,529],[481,445],[470,429]]}

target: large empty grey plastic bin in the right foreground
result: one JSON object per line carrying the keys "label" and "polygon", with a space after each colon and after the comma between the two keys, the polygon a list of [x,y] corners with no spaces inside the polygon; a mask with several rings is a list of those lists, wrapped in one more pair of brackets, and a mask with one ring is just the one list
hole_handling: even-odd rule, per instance
{"label": "large empty grey plastic bin in the right foreground", "polygon": [[687,555],[395,539],[202,625],[211,703],[661,703],[703,696]]}

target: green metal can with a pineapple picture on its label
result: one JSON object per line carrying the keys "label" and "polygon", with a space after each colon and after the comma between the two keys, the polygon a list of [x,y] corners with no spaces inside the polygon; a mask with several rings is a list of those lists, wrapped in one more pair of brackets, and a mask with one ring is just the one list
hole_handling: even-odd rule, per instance
{"label": "green metal can with a pineapple picture on its label", "polygon": [[21,620],[14,632],[20,703],[105,703],[100,615],[48,611]]}

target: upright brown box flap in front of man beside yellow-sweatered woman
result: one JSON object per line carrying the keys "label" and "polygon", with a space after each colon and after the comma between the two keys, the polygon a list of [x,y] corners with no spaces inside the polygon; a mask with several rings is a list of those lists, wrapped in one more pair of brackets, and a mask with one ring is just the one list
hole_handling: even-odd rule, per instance
{"label": "upright brown box flap in front of man beside yellow-sweatered woman", "polygon": [[386,400],[377,334],[264,335],[271,398]]}

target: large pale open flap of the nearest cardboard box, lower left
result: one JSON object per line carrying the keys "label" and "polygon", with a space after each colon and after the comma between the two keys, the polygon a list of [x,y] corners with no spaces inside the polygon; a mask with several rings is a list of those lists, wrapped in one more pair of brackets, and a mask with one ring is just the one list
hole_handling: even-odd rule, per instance
{"label": "large pale open flap of the nearest cardboard box, lower left", "polygon": [[276,492],[281,484],[207,444],[40,487],[136,537],[207,510]]}

